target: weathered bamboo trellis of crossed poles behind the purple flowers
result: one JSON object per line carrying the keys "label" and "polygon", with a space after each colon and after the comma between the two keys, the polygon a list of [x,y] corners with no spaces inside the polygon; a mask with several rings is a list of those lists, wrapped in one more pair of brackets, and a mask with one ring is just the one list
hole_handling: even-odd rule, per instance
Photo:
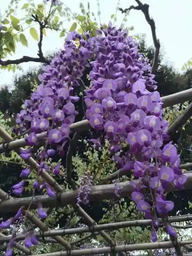
{"label": "weathered bamboo trellis of crossed poles behind the purple flowers", "polygon": [[[162,101],[164,102],[164,105],[170,105],[172,103],[178,104],[180,102],[183,102],[185,100],[190,100],[192,95],[192,90],[186,90],[181,93],[176,93],[173,95],[169,95],[162,98]],[[188,108],[190,111],[190,108]],[[187,113],[187,115],[186,115]],[[183,116],[186,119],[186,116],[189,118],[190,115],[187,111],[183,114]],[[183,121],[183,116],[179,117],[174,123],[177,123],[179,120]],[[172,124],[173,126],[174,124]],[[177,127],[177,125],[175,127]],[[78,123],[74,123],[71,125],[71,132],[78,132],[79,130],[86,130],[89,129],[89,122],[88,120],[83,120]],[[2,127],[0,127],[0,136],[3,138],[3,140],[7,143],[5,147],[4,145],[0,145],[0,152],[3,153],[7,149],[9,151],[15,150],[15,152],[19,151],[19,148],[21,146],[25,146],[26,142],[25,139],[17,139],[13,140],[13,138],[4,130]],[[45,137],[45,133],[41,133],[37,135],[38,139],[42,139]],[[34,169],[37,169],[38,164],[36,161],[31,157],[30,159],[26,160],[28,164],[33,166]],[[181,168],[190,168],[191,163],[180,165]],[[75,189],[73,191],[65,192],[63,191],[62,187],[46,172],[42,171],[40,173],[41,177],[45,179],[56,191],[57,195],[55,197],[48,197],[48,196],[37,196],[37,197],[28,197],[28,198],[12,198],[10,195],[5,193],[3,190],[0,190],[0,198],[2,199],[2,202],[0,204],[0,213],[2,212],[14,212],[18,210],[21,206],[24,206],[26,209],[26,217],[29,218],[39,229],[44,233],[44,237],[52,237],[54,238],[54,241],[61,244],[66,251],[57,252],[57,253],[47,253],[47,254],[41,254],[41,255],[68,255],[69,251],[71,255],[88,255],[88,254],[101,254],[101,253],[110,253],[110,252],[119,252],[123,253],[124,251],[133,251],[133,250],[144,250],[144,249],[156,249],[156,248],[171,248],[173,247],[173,243],[170,241],[162,241],[157,243],[144,243],[144,244],[136,244],[136,245],[122,245],[122,246],[116,246],[114,241],[110,238],[109,234],[106,233],[106,231],[115,230],[118,228],[125,228],[130,226],[151,226],[151,220],[137,220],[137,221],[126,221],[126,222],[120,222],[120,223],[110,223],[110,224],[103,224],[103,225],[97,225],[94,220],[91,219],[91,217],[80,207],[80,205],[77,203],[77,195],[78,195],[78,189]],[[185,189],[192,187],[192,174],[186,173],[187,176],[187,182],[185,183]],[[137,183],[137,180],[134,182]],[[121,187],[120,195],[121,197],[127,197],[130,195],[132,191],[132,186],[129,185],[129,182],[120,182],[118,184]],[[90,200],[100,200],[100,199],[109,199],[109,198],[115,198],[114,194],[115,185],[114,184],[104,184],[104,185],[97,185],[93,186],[90,191]],[[169,191],[172,190],[173,187],[169,188]],[[41,202],[43,207],[55,207],[55,206],[63,206],[67,204],[71,204],[74,206],[74,208],[78,211],[79,215],[82,216],[87,222],[88,227],[81,227],[81,228],[71,228],[71,229],[61,229],[61,230],[50,230],[42,221],[40,221],[32,212],[28,210],[29,204],[31,209],[37,208],[37,203]],[[59,203],[58,203],[59,202]],[[192,220],[192,215],[188,216],[181,216],[181,217],[171,217],[168,219],[168,222],[174,223],[174,222],[183,222],[183,221],[190,221]],[[175,226],[176,228],[182,228],[182,226]],[[183,226],[183,228],[190,228],[192,225],[187,225],[186,227]],[[103,248],[92,248],[92,249],[77,249],[70,243],[68,243],[63,237],[67,234],[74,234],[74,233],[84,233],[84,232],[91,232],[95,233],[95,235],[100,234],[106,242],[110,244],[110,247],[103,247]],[[36,232],[35,233],[37,238],[40,238],[41,233]],[[22,250],[24,253],[28,255],[34,255],[34,252],[25,248],[24,246],[19,244],[19,241],[22,241],[25,239],[25,235],[18,235],[15,238],[16,244],[15,247]],[[10,237],[6,237],[4,234],[0,233],[0,244],[8,243],[10,241]],[[49,242],[49,240],[47,240]],[[190,245],[192,244],[192,241],[183,241],[179,242],[179,245]],[[189,254],[188,254],[189,255]]]}

